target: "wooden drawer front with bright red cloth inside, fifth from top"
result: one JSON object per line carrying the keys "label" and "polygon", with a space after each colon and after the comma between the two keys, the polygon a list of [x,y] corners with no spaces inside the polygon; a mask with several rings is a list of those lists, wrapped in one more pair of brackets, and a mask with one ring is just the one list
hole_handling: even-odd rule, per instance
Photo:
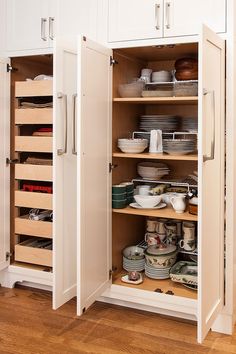
{"label": "wooden drawer front with bright red cloth inside, fifth from top", "polygon": [[52,210],[52,194],[15,191],[15,206]]}

